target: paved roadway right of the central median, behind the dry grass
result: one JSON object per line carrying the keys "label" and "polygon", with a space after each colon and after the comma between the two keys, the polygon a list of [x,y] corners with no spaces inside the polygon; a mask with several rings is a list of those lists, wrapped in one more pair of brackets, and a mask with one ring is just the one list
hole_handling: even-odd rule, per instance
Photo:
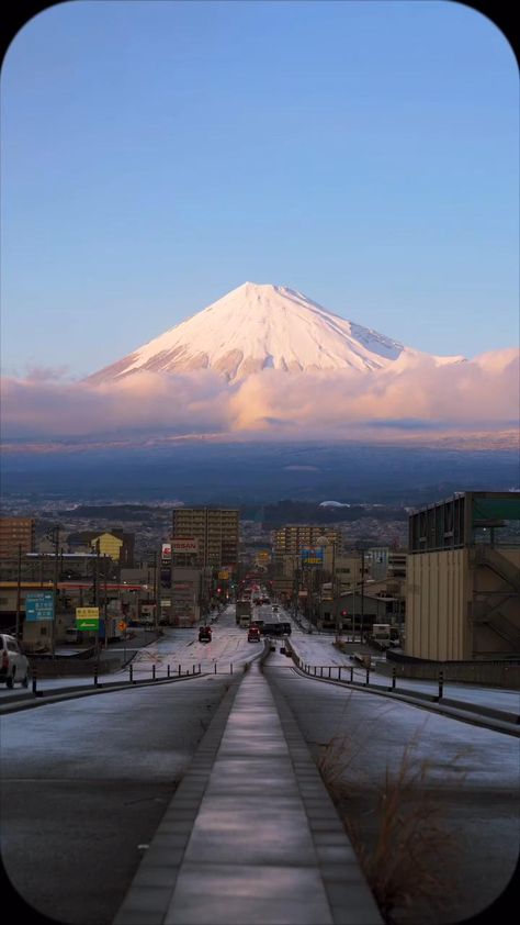
{"label": "paved roadway right of the central median, behind the dry grass", "polygon": [[425,877],[438,878],[441,904],[416,904],[408,920],[400,910],[396,922],[460,923],[501,894],[520,848],[517,738],[360,690],[309,683],[278,654],[268,660],[265,675],[289,702],[316,760],[328,755],[330,772],[344,788],[343,812],[366,849],[376,842],[386,772],[396,776],[405,747],[412,744],[408,779],[418,776],[419,795],[411,789],[400,811],[421,820],[421,806],[430,801],[419,843],[431,822],[441,839]]}

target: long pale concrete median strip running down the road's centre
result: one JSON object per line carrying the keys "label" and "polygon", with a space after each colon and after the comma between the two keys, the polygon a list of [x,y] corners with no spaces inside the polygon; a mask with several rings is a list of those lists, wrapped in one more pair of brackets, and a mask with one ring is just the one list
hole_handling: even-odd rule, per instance
{"label": "long pale concrete median strip running down the road's centre", "polygon": [[291,711],[260,665],[233,682],[114,925],[378,925]]}

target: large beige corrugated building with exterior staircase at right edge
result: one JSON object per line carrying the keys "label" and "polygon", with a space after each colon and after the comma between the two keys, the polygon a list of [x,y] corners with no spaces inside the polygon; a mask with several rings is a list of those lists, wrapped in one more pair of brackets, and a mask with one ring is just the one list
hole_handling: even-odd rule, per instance
{"label": "large beige corrugated building with exterior staircase at right edge", "polygon": [[410,515],[405,654],[520,655],[520,492],[465,492]]}

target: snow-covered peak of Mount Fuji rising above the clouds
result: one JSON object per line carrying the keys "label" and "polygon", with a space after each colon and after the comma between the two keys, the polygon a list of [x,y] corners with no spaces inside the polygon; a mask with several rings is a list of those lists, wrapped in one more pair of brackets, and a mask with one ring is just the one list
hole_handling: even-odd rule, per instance
{"label": "snow-covered peak of Mount Fuji rising above the clouds", "polygon": [[[329,312],[294,289],[245,282],[84,381],[101,385],[140,370],[212,369],[233,383],[263,369],[371,372],[400,369],[426,356]],[[430,359],[441,366],[464,357]]]}

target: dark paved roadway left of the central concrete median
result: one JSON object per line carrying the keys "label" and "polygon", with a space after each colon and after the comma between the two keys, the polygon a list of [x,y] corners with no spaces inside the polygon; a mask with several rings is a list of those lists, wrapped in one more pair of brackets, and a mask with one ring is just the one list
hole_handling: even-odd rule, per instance
{"label": "dark paved roadway left of the central concrete median", "polygon": [[2,858],[31,905],[110,925],[233,681],[210,675],[2,716]]}

